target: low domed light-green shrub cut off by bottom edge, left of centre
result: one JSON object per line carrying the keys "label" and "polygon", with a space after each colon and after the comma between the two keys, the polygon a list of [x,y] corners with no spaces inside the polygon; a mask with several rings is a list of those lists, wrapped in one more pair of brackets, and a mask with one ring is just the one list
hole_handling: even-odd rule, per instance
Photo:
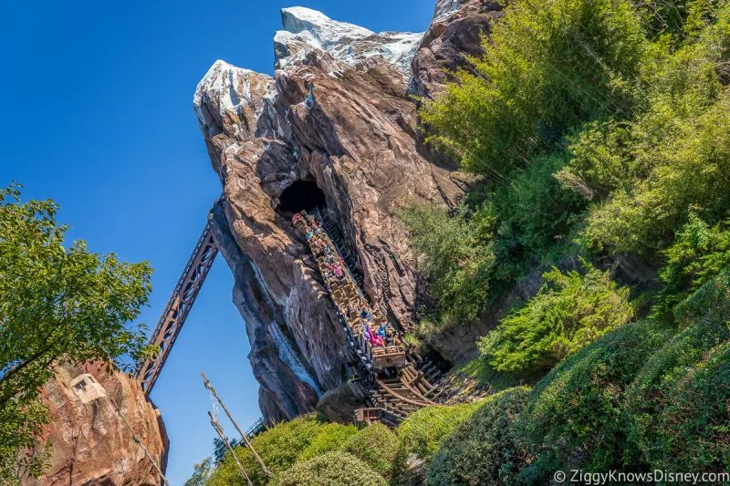
{"label": "low domed light-green shrub cut off by bottom edge, left of centre", "polygon": [[367,464],[345,452],[328,452],[278,474],[276,486],[385,486]]}

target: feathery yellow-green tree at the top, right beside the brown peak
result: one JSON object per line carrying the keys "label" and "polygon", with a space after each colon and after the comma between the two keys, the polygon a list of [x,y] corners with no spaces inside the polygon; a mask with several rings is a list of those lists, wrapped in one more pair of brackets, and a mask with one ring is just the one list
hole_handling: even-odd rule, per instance
{"label": "feathery yellow-green tree at the top, right beside the brown peak", "polygon": [[464,169],[503,180],[571,127],[630,117],[646,40],[625,0],[516,0],[484,48],[421,116]]}

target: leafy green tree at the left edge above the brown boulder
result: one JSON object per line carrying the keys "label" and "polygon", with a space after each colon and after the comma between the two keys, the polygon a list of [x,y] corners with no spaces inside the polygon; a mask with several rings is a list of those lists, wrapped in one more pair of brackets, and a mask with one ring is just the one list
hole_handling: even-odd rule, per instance
{"label": "leafy green tree at the left edge above the brown boulder", "polygon": [[[52,201],[20,201],[20,187],[0,190],[0,465],[35,442],[45,421],[38,389],[62,362],[103,361],[129,369],[147,352],[140,326],[149,264],[125,264],[65,246],[66,225]],[[130,362],[131,360],[131,362]],[[6,418],[10,418],[7,419]],[[15,424],[15,425],[13,425]],[[38,472],[32,458],[26,468]],[[29,461],[29,463],[28,463]]]}

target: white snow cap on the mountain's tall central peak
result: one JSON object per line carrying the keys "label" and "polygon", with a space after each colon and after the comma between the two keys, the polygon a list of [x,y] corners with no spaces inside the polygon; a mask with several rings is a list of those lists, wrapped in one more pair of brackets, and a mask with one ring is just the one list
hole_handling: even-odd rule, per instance
{"label": "white snow cap on the mountain's tall central peak", "polygon": [[381,56],[408,73],[423,34],[382,32],[332,20],[317,10],[295,6],[281,10],[283,30],[276,32],[276,67],[285,68],[313,50],[327,52],[339,61],[356,65]]}

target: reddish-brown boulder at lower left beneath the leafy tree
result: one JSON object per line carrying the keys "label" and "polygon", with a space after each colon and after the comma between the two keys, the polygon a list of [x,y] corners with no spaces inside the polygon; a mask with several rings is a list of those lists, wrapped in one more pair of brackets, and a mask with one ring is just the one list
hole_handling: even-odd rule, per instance
{"label": "reddish-brown boulder at lower left beneath the leafy tree", "polygon": [[162,418],[140,385],[102,365],[59,367],[43,388],[52,423],[41,439],[52,443],[50,467],[24,486],[154,485],[160,474],[134,441],[119,412],[164,470],[169,442]]}

